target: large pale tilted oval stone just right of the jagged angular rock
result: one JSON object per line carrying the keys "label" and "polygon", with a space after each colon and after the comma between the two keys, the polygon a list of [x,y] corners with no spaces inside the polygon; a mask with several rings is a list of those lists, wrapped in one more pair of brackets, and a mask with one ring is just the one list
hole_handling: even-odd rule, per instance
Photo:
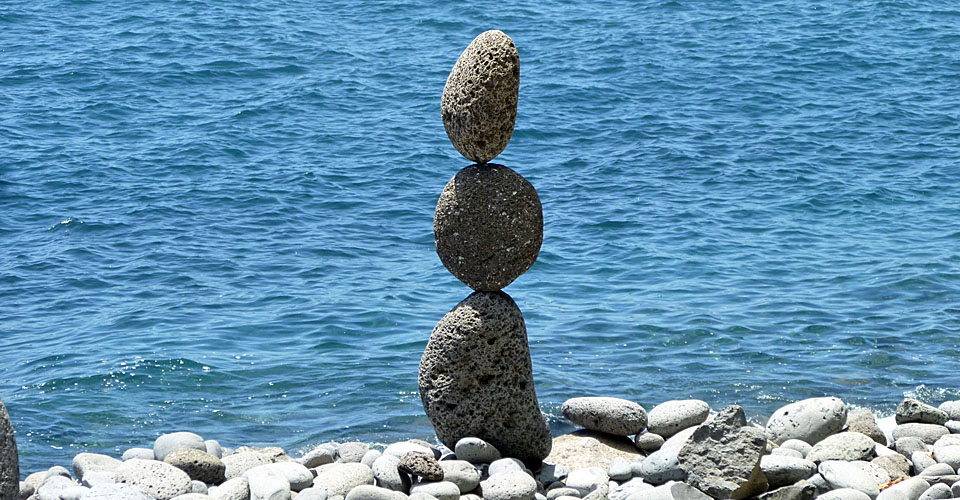
{"label": "large pale tilted oval stone just right of the jagged angular rock", "polygon": [[847,407],[840,399],[804,399],[775,411],[767,421],[766,434],[778,444],[799,439],[813,445],[840,432],[846,422]]}

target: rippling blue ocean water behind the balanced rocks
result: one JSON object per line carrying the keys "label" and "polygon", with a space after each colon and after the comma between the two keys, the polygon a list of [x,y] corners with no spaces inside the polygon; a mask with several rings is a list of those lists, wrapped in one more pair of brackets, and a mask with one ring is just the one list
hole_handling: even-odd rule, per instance
{"label": "rippling blue ocean water behind the balanced rocks", "polygon": [[960,7],[945,1],[0,2],[0,397],[21,473],[163,432],[433,436],[469,294],[460,52],[521,62],[545,237],[510,285],[567,398],[768,415],[960,399]]}

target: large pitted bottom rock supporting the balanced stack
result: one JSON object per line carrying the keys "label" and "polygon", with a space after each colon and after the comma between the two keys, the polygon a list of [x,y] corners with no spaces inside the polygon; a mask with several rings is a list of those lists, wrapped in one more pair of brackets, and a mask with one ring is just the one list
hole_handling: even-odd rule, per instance
{"label": "large pitted bottom rock supporting the balanced stack", "polygon": [[437,437],[455,448],[479,437],[538,469],[550,453],[520,308],[502,292],[474,292],[434,328],[420,361],[420,397]]}

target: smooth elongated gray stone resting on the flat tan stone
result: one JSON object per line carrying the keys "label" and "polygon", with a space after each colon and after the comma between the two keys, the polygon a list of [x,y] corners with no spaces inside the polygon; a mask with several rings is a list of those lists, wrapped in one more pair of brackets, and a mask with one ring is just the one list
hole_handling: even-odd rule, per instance
{"label": "smooth elongated gray stone resting on the flat tan stone", "polygon": [[647,426],[647,412],[626,399],[571,398],[563,403],[560,411],[567,420],[585,429],[616,436],[637,434]]}

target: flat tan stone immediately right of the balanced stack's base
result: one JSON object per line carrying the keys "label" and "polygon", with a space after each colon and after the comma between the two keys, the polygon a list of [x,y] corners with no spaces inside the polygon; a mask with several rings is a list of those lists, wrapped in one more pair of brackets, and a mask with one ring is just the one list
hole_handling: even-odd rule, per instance
{"label": "flat tan stone immediately right of the balanced stack's base", "polygon": [[563,464],[570,471],[587,467],[606,470],[616,457],[623,457],[629,462],[644,459],[629,438],[597,431],[580,430],[557,436],[553,439],[552,448],[544,461]]}

